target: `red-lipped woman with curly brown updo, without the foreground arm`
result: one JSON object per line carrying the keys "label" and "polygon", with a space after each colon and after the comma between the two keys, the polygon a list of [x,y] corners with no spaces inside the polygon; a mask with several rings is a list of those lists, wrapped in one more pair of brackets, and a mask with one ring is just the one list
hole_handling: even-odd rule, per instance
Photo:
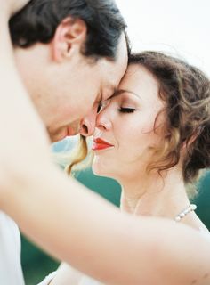
{"label": "red-lipped woman with curly brown updo, without the foreground arm", "polygon": [[[122,211],[165,217],[208,235],[186,188],[210,167],[209,143],[206,76],[163,53],[138,53],[117,92],[99,108],[93,172],[122,185]],[[61,265],[51,284],[64,283],[97,284]]]}

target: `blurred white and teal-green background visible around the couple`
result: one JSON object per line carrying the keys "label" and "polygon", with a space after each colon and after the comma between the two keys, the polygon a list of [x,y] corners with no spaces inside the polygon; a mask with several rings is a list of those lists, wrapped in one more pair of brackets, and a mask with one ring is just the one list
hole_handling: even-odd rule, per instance
{"label": "blurred white and teal-green background visible around the couple", "polygon": [[[106,1],[106,0],[105,0]],[[210,76],[208,0],[116,0],[128,24],[133,51],[158,50],[180,56]],[[75,138],[52,145],[52,151],[71,149]],[[91,169],[76,178],[114,204],[119,204],[120,186],[114,180],[94,176]],[[197,213],[210,229],[210,173],[199,183]],[[22,236],[22,266],[27,285],[37,284],[59,263]]]}

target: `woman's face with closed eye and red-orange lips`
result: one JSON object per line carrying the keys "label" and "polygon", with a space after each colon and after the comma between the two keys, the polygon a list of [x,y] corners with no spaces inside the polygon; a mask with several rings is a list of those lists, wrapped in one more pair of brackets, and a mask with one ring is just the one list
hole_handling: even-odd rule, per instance
{"label": "woman's face with closed eye and red-orange lips", "polygon": [[93,172],[119,179],[145,173],[163,137],[164,102],[158,81],[141,65],[130,65],[116,94],[101,108],[93,142]]}

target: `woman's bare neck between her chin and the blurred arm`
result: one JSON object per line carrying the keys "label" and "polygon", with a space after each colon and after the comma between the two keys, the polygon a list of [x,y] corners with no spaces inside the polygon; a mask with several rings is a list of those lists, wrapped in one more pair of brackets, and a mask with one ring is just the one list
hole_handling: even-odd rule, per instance
{"label": "woman's bare neck between her chin and the blurred arm", "polygon": [[121,209],[133,215],[173,219],[190,204],[182,177],[175,171],[165,177],[144,175],[122,185]]}

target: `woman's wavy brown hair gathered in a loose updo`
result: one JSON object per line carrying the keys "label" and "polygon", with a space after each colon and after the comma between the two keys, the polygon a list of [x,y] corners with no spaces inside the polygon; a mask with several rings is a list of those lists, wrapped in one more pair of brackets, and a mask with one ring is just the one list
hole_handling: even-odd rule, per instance
{"label": "woman's wavy brown hair gathered in a loose updo", "polygon": [[209,79],[199,69],[164,53],[135,53],[129,64],[141,64],[158,80],[159,97],[166,102],[162,110],[167,118],[165,138],[149,170],[160,173],[177,165],[184,145],[182,176],[185,183],[192,183],[200,169],[210,167]]}

